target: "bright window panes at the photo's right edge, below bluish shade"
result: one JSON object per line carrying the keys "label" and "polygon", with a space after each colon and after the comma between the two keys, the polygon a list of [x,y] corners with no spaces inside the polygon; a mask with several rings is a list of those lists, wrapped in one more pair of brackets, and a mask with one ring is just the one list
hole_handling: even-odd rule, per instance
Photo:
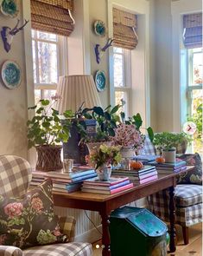
{"label": "bright window panes at the photo's right edge, below bluish shade", "polygon": [[193,135],[193,152],[202,152],[202,49],[187,49],[187,115],[193,121],[197,131]]}

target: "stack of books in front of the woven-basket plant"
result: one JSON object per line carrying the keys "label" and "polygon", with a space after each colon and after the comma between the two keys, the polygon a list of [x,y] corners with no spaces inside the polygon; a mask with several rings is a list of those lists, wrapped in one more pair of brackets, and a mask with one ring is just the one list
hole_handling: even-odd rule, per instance
{"label": "stack of books in front of the woven-basket plant", "polygon": [[34,171],[31,185],[38,185],[46,179],[53,182],[53,191],[72,193],[80,190],[82,182],[97,176],[94,169],[73,169],[71,173],[62,171],[40,172]]}

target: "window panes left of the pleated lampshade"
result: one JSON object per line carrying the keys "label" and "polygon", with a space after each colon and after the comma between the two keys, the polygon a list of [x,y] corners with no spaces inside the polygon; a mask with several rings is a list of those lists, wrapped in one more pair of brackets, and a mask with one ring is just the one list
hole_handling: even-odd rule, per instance
{"label": "window panes left of the pleated lampshade", "polygon": [[55,94],[59,77],[59,37],[32,30],[35,102]]}

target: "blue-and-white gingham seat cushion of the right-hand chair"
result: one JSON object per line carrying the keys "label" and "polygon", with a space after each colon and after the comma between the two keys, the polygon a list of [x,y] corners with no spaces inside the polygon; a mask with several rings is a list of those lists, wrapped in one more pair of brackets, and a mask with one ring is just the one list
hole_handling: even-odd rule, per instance
{"label": "blue-and-white gingham seat cushion of the right-hand chair", "polygon": [[189,207],[202,202],[202,187],[200,185],[184,184],[175,187],[175,205]]}

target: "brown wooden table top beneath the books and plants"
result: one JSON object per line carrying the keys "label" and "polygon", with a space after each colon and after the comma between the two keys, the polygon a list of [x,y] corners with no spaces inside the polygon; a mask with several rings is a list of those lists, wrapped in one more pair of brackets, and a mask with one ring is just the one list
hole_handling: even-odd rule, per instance
{"label": "brown wooden table top beneath the books and plants", "polygon": [[174,173],[174,174],[158,174],[158,179],[154,180],[154,181],[149,181],[147,183],[144,184],[134,184],[134,187],[131,187],[129,189],[126,189],[122,192],[119,192],[117,194],[96,194],[96,193],[87,193],[87,192],[82,192],[82,191],[77,191],[77,192],[73,192],[73,193],[63,193],[63,192],[57,192],[57,191],[53,191],[53,194],[55,195],[61,195],[61,196],[66,196],[67,199],[73,199],[73,200],[88,200],[88,201],[98,201],[98,202],[104,202],[107,200],[111,200],[113,198],[116,198],[122,194],[126,194],[129,193],[130,191],[136,191],[136,190],[140,190],[143,187],[148,187],[149,185],[153,184],[155,185],[156,183],[158,184],[161,181],[166,181],[168,179],[174,178],[175,176],[177,176],[178,174],[181,173],[185,173],[186,171],[190,171],[193,169],[193,166],[187,166],[187,169],[184,171],[181,171],[179,173]]}

